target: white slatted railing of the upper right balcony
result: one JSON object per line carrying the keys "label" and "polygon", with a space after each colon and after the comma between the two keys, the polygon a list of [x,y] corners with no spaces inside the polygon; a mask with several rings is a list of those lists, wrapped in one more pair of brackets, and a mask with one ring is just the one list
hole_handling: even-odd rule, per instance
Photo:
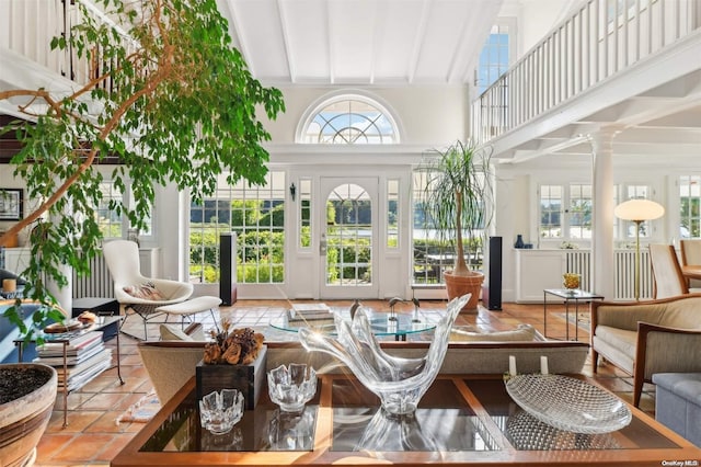
{"label": "white slatted railing of the upper right balcony", "polygon": [[472,103],[486,143],[531,121],[701,26],[696,0],[589,0]]}

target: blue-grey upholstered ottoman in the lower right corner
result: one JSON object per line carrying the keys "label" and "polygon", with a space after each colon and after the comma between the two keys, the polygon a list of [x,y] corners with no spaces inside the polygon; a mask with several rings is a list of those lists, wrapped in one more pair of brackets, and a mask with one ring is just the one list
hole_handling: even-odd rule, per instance
{"label": "blue-grey upholstered ottoman in the lower right corner", "polygon": [[656,373],[655,419],[701,446],[701,373]]}

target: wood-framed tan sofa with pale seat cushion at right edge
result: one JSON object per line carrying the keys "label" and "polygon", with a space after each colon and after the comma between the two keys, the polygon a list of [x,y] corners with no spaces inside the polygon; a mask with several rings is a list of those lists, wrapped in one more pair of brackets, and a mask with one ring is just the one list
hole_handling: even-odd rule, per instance
{"label": "wood-framed tan sofa with pale seat cushion at right edge", "polygon": [[633,405],[655,373],[701,371],[701,294],[591,303],[591,365],[599,356],[633,376]]}

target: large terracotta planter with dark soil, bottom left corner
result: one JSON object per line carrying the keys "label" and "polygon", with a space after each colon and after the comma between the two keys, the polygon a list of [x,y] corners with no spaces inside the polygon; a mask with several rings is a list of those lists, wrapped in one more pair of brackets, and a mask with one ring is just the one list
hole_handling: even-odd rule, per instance
{"label": "large terracotta planter with dark soil, bottom left corner", "polygon": [[0,365],[0,379],[5,384],[10,385],[15,376],[23,381],[15,384],[18,387],[34,385],[35,388],[0,405],[0,466],[3,467],[34,464],[36,445],[51,417],[58,385],[56,369],[50,366],[36,363]]}

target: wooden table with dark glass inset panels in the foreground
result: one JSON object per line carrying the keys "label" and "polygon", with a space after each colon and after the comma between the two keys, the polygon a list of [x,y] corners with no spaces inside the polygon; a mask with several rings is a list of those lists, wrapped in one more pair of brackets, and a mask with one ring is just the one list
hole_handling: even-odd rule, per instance
{"label": "wooden table with dark glass inset panels in the foreground", "polygon": [[701,448],[633,407],[631,424],[607,434],[533,423],[498,375],[439,375],[414,417],[384,417],[376,396],[353,376],[320,375],[318,386],[315,398],[292,417],[280,414],[264,389],[254,410],[245,411],[231,432],[216,436],[199,425],[192,378],[111,466],[659,467],[671,459],[701,459]]}

